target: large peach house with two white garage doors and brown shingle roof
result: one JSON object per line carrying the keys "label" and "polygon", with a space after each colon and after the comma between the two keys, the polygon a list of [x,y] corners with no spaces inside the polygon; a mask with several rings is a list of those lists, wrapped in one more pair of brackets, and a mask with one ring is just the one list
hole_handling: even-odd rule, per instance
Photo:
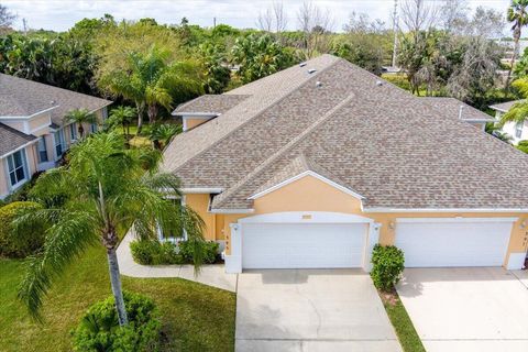
{"label": "large peach house with two white garage doors and brown shingle roof", "polygon": [[230,273],[369,271],[376,243],[403,249],[408,267],[520,268],[528,156],[460,106],[322,55],[178,107],[186,131],[162,169]]}

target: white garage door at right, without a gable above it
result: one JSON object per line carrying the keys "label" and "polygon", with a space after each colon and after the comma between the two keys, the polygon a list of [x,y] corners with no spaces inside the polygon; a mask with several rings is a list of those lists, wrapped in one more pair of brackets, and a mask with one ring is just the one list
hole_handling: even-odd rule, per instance
{"label": "white garage door at right, without a gable above it", "polygon": [[395,245],[404,251],[407,267],[501,266],[512,226],[512,220],[398,221]]}

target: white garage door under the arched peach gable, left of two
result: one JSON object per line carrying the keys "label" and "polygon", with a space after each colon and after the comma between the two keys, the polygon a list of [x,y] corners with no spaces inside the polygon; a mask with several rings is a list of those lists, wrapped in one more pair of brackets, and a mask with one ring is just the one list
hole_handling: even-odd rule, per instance
{"label": "white garage door under the arched peach gable, left of two", "polygon": [[364,223],[245,223],[243,268],[361,267]]}

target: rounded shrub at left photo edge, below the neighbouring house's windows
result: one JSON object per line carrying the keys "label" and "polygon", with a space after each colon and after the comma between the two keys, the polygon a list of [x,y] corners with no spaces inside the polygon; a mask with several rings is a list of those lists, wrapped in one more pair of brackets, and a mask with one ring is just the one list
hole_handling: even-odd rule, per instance
{"label": "rounded shrub at left photo edge, below the neighbouring house's windows", "polygon": [[38,209],[32,201],[13,201],[0,208],[0,256],[24,257],[44,244],[44,223],[34,223],[14,231],[13,221],[23,211]]}

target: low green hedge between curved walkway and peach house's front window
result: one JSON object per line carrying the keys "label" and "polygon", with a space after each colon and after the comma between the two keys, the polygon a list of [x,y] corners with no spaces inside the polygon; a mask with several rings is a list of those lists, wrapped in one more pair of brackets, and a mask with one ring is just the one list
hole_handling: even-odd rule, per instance
{"label": "low green hedge between curved walkway and peach house's front window", "polygon": [[143,265],[183,264],[178,246],[172,242],[140,240],[130,243],[132,257]]}

